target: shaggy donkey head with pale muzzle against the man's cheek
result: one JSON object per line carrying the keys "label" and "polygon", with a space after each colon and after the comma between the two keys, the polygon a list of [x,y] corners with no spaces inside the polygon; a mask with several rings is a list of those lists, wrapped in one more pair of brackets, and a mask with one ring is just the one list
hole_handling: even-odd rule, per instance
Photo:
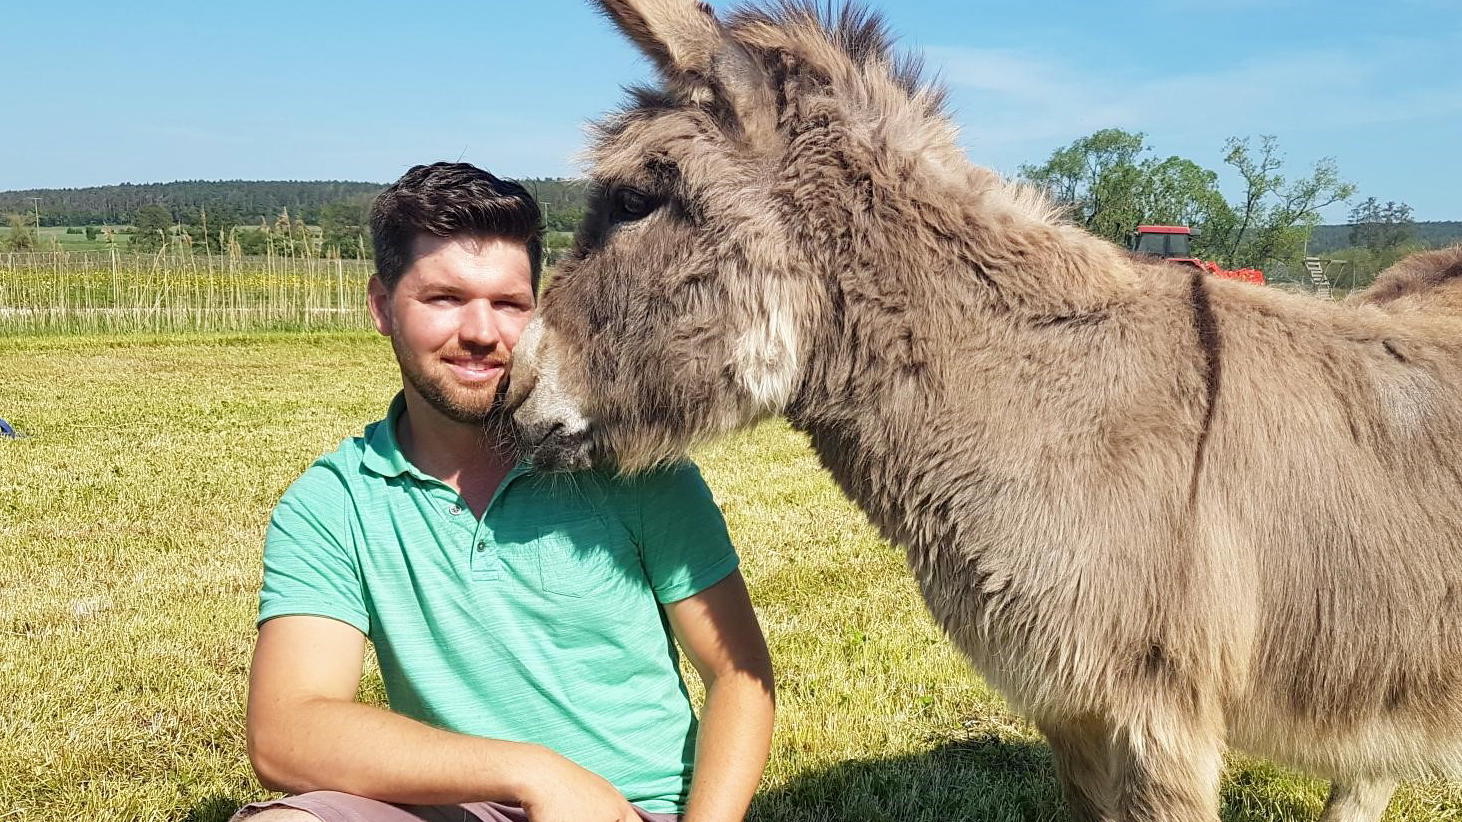
{"label": "shaggy donkey head with pale muzzle against the man's cheek", "polygon": [[595,127],[589,215],[515,352],[509,402],[547,470],[633,471],[782,411],[873,189],[908,158],[969,168],[876,18],[598,3],[662,85]]}

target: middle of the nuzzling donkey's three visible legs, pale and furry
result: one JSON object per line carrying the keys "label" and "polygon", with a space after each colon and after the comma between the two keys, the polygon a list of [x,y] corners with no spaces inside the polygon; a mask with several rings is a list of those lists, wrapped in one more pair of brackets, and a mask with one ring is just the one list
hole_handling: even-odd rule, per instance
{"label": "middle of the nuzzling donkey's three visible legs, pale and furry", "polygon": [[1121,822],[1218,822],[1218,723],[1155,702],[1117,728],[1113,747]]}

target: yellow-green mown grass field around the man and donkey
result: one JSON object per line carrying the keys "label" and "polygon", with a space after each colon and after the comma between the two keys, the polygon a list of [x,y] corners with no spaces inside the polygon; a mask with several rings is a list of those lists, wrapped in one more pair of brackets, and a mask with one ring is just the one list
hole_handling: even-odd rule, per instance
{"label": "yellow-green mown grass field around the man and donkey", "polygon": [[[266,796],[243,742],[263,527],[396,385],[364,333],[0,338],[0,417],[29,434],[0,440],[0,819],[209,822]],[[753,819],[1066,819],[1044,742],[798,434],[697,459],[781,683]],[[1237,761],[1224,815],[1313,819],[1322,788]],[[1411,785],[1389,819],[1459,810]]]}

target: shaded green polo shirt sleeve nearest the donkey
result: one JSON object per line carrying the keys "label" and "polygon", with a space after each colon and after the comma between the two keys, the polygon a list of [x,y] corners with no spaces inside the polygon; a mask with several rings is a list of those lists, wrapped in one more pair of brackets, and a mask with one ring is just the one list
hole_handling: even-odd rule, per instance
{"label": "shaded green polo shirt sleeve nearest the donkey", "polygon": [[658,601],[693,597],[741,565],[694,464],[651,471],[637,486],[640,557]]}

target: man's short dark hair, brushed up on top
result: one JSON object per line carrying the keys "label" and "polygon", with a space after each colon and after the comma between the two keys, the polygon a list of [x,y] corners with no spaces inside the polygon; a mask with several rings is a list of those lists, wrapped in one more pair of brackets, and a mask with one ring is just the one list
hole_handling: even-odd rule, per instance
{"label": "man's short dark hair, brushed up on top", "polygon": [[534,196],[512,180],[499,180],[469,162],[417,165],[382,192],[370,208],[376,276],[395,290],[411,268],[418,234],[499,237],[528,247],[532,288],[542,274],[542,212]]}

